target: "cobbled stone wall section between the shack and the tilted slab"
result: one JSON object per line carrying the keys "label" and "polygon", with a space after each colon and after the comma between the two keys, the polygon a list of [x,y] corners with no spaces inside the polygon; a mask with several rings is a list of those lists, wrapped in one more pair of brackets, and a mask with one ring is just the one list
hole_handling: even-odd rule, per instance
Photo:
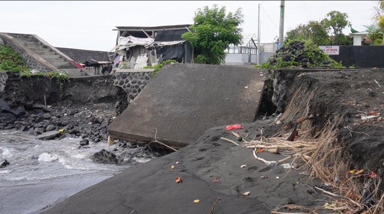
{"label": "cobbled stone wall section between the shack and the tilted slab", "polygon": [[121,87],[128,96],[128,102],[132,102],[138,93],[150,81],[153,69],[137,69],[130,71],[126,69],[121,72],[116,72],[114,85]]}

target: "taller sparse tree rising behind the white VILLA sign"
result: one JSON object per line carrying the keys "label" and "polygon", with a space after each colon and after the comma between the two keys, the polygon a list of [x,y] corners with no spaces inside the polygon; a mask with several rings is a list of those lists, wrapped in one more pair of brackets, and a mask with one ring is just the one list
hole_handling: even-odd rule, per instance
{"label": "taller sparse tree rising behind the white VILLA sign", "polygon": [[343,29],[350,24],[347,18],[347,13],[333,10],[327,13],[327,17],[321,21],[322,25],[333,36],[332,43],[335,45],[349,42],[349,38],[343,34]]}

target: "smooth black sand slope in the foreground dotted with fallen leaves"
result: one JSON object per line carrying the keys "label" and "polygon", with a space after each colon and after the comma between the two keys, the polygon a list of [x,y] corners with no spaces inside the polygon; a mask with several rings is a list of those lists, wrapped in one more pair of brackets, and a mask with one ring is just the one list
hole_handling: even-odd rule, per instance
{"label": "smooth black sand slope in the foreground dotted with fallen leaves", "polygon": [[[260,133],[258,128],[268,126],[265,121],[250,123],[240,133],[253,138]],[[44,213],[209,213],[219,198],[213,213],[268,213],[270,208],[290,203],[324,205],[325,201],[316,200],[325,197],[311,189],[321,185],[320,181],[308,180],[299,170],[287,172],[281,165],[268,167],[253,158],[251,149],[235,146],[219,139],[221,136],[236,138],[225,126],[209,129],[195,144],[139,164]],[[284,158],[267,152],[259,156]],[[241,168],[242,164],[247,167]],[[176,183],[176,177],[182,182]],[[219,182],[213,181],[216,178]],[[248,191],[250,195],[242,195]],[[200,202],[193,203],[196,199]]]}

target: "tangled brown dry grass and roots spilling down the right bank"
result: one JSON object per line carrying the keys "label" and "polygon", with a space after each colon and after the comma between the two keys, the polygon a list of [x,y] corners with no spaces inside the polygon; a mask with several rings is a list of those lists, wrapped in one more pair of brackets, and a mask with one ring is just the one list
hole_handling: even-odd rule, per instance
{"label": "tangled brown dry grass and roots spilling down the right bank", "polygon": [[[305,88],[296,90],[280,120],[288,123],[309,114],[310,102],[314,98],[315,91],[316,88],[312,91]],[[268,139],[261,137],[259,140],[244,142],[244,145],[248,148],[280,148],[292,158],[303,160],[305,164],[302,167],[310,177],[320,178],[327,186],[332,187],[333,192],[328,196],[334,194],[331,195],[334,207],[317,207],[310,210],[296,206],[296,209],[307,213],[323,212],[324,209],[336,213],[384,213],[384,194],[379,190],[381,182],[379,176],[371,178],[366,172],[358,175],[349,173],[352,166],[351,157],[346,145],[337,140],[338,129],[345,125],[343,112],[327,115],[328,120],[321,129],[313,127],[310,121],[300,124],[298,126],[300,137],[294,142],[284,140],[289,133],[288,130],[283,130],[274,135],[280,137]],[[314,128],[317,130],[316,133],[313,133]],[[367,207],[367,203],[362,201],[367,189],[374,202],[371,207]],[[272,212],[279,213],[279,209],[274,209]]]}

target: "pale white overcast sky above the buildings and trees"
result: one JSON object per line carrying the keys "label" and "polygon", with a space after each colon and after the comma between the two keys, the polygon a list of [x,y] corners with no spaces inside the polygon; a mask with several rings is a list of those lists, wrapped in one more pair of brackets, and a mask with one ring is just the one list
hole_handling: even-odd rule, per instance
{"label": "pale white overcast sky above the buildings and trees", "polygon": [[[56,47],[109,51],[115,26],[165,26],[193,23],[204,6],[243,9],[244,33],[257,34],[261,4],[261,43],[279,35],[281,1],[2,1],[0,32],[36,34]],[[284,32],[332,10],[345,12],[357,31],[372,23],[374,1],[285,1]],[[344,33],[349,33],[349,28]]]}

